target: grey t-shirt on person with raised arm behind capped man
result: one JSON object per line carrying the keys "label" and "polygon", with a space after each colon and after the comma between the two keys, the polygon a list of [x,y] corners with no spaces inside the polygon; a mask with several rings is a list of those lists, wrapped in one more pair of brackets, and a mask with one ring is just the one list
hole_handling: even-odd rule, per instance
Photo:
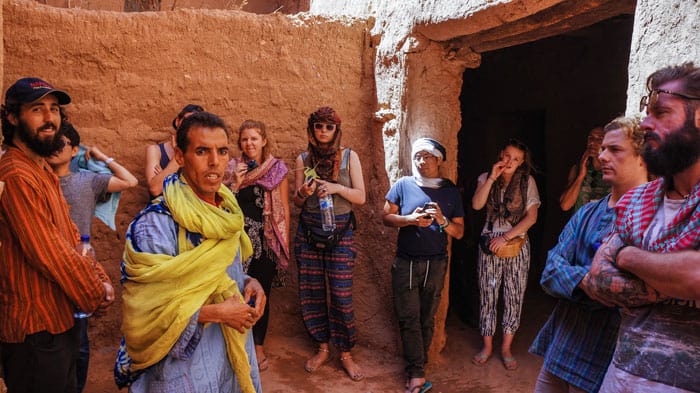
{"label": "grey t-shirt on person with raised arm behind capped man", "polygon": [[70,218],[81,235],[91,235],[92,216],[98,201],[105,199],[107,185],[112,178],[108,173],[72,172],[60,177],[61,190],[70,206]]}

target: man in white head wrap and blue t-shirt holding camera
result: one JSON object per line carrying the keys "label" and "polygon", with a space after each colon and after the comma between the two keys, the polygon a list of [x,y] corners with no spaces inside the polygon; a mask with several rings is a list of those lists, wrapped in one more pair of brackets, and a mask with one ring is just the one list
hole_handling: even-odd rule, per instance
{"label": "man in white head wrap and blue t-shirt holding camera", "polygon": [[406,393],[424,392],[425,364],[435,312],[447,272],[447,236],[464,234],[464,209],[457,187],[440,177],[445,147],[431,138],[413,143],[413,176],[399,179],[386,194],[384,225],[399,228],[391,267],[394,306],[406,366]]}

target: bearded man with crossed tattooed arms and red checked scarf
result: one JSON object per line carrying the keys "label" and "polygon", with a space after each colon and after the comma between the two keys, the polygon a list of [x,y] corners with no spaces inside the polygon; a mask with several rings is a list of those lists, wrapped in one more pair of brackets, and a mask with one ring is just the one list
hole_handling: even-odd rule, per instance
{"label": "bearded man with crossed tattooed arms and red checked scarf", "polygon": [[643,157],[660,177],[620,200],[584,279],[590,296],[622,307],[601,392],[700,389],[700,68],[662,68],[647,89]]}

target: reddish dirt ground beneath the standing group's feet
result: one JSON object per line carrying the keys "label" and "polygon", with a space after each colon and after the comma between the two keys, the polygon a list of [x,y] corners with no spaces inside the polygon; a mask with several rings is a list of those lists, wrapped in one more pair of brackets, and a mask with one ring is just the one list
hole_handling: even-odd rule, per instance
{"label": "reddish dirt ground beneath the standing group's feet", "polygon": [[[274,291],[273,289],[273,299]],[[514,343],[513,353],[520,363],[520,367],[515,371],[506,371],[503,368],[498,353],[495,353],[485,366],[473,365],[470,359],[480,349],[481,344],[479,332],[450,314],[447,320],[447,345],[427,370],[428,380],[433,383],[431,392],[531,392],[542,359],[527,353],[527,348],[547,319],[553,304],[553,300],[539,289],[528,289],[523,307],[523,322]],[[282,326],[279,324],[280,319],[275,318],[273,313],[265,342],[270,361],[270,367],[262,373],[265,393],[403,392],[404,363],[398,348],[392,352],[363,346],[360,337],[360,344],[353,351],[366,376],[360,382],[352,382],[348,378],[340,366],[337,353],[332,354],[332,361],[309,374],[304,371],[303,364],[306,358],[311,356],[313,347],[303,330],[301,318],[298,320],[298,326]],[[498,345],[499,337],[496,336],[495,340],[495,344]],[[92,348],[86,393],[118,392],[112,379],[114,354],[113,346]]]}

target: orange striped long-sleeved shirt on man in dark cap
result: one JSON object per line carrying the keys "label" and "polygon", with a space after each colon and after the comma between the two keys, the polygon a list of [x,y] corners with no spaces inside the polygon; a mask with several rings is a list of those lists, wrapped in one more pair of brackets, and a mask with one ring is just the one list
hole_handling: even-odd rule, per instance
{"label": "orange striped long-sleeved shirt on man in dark cap", "polygon": [[94,311],[105,297],[102,267],[75,250],[78,231],[58,178],[21,150],[0,159],[0,342],[70,329],[76,307]]}

